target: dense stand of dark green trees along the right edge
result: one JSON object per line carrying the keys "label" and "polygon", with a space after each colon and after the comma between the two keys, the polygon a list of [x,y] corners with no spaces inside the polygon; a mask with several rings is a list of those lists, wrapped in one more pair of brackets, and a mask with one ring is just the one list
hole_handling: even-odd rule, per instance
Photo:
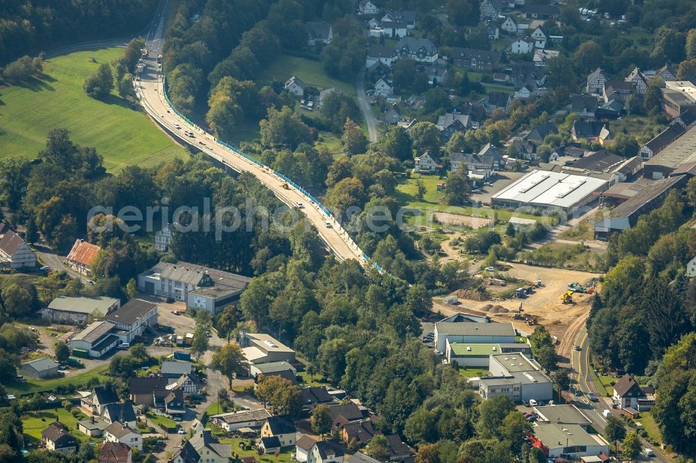
{"label": "dense stand of dark green trees along the right edge", "polygon": [[656,387],[652,413],[663,439],[688,456],[696,455],[696,281],[685,270],[696,232],[681,225],[692,216],[695,191],[691,179],[683,195],[670,193],[636,227],[610,238],[610,270],[587,322],[595,368]]}

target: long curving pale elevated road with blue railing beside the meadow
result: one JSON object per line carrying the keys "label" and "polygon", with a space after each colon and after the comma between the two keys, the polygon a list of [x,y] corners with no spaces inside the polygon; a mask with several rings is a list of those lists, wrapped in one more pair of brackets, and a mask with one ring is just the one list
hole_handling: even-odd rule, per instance
{"label": "long curving pale elevated road with blue railing beside the meadow", "polygon": [[[288,185],[270,168],[253,163],[241,154],[217,143],[211,133],[207,133],[197,126],[189,126],[189,123],[183,117],[171,110],[164,95],[164,77],[157,72],[157,55],[161,54],[163,49],[168,3],[169,0],[160,1],[157,15],[145,36],[145,47],[149,50],[149,56],[144,60],[146,65],[145,71],[141,75],[141,80],[134,82],[136,95],[140,99],[141,104],[143,104],[145,111],[157,124],[183,143],[188,143],[200,149],[208,156],[236,172],[250,172],[253,174],[287,206],[294,208],[301,205],[302,212],[317,229],[326,247],[338,259],[356,259],[363,266],[367,266],[369,262],[363,258],[363,252],[348,236],[340,223],[333,216],[322,211],[308,195],[292,185]],[[175,124],[178,124],[180,127],[177,128]],[[192,131],[193,136],[186,136],[184,131]]]}

